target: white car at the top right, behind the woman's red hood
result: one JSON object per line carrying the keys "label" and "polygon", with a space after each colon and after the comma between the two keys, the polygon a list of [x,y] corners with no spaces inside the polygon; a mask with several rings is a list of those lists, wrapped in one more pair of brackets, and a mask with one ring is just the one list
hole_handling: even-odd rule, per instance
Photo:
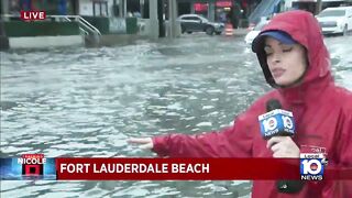
{"label": "white car at the top right, behind the woman's red hood", "polygon": [[317,16],[323,34],[343,34],[352,30],[352,7],[327,8]]}

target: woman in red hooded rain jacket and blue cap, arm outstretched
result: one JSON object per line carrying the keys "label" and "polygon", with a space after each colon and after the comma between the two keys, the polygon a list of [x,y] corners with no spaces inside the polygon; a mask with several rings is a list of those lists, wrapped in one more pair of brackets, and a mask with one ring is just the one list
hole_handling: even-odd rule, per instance
{"label": "woman in red hooded rain jacket and blue cap, arm outstretched", "polygon": [[[352,94],[333,82],[320,26],[306,11],[277,14],[253,41],[266,81],[275,88],[256,100],[234,124],[220,132],[131,139],[160,156],[299,157],[302,147],[326,151],[329,165],[352,166]],[[295,136],[264,140],[257,117],[277,99],[294,113]],[[252,197],[352,197],[352,183],[307,183],[295,194],[279,193],[276,182],[254,180]]]}

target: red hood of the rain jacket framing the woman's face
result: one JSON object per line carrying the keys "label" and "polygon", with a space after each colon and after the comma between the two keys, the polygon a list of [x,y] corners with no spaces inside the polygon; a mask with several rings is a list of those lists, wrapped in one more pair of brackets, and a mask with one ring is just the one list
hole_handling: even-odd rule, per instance
{"label": "red hood of the rain jacket framing the woman's face", "polygon": [[[266,54],[264,52],[263,33],[268,31],[282,31],[292,36],[293,40],[301,44],[307,50],[308,68],[302,77],[302,82],[294,88],[278,87],[268,69]],[[256,41],[255,41],[256,40]],[[285,96],[290,96],[298,100],[299,92],[307,94],[307,89],[321,87],[332,81],[330,72],[330,56],[323,43],[323,36],[316,18],[307,11],[295,10],[275,15],[272,21],[265,25],[263,31],[253,41],[253,44],[260,45],[254,50],[266,81],[274,88],[277,88]],[[314,82],[314,84],[312,84]],[[298,92],[297,92],[298,91]]]}

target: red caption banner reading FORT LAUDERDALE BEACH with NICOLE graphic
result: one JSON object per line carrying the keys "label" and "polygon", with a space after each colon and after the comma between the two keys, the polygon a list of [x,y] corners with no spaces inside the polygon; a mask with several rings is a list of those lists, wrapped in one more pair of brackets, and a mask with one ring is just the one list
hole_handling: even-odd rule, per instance
{"label": "red caption banner reading FORT LAUDERDALE BEACH with NICOLE graphic", "polygon": [[[299,158],[1,158],[3,180],[276,180],[300,176]],[[352,179],[352,167],[326,168],[323,179]]]}

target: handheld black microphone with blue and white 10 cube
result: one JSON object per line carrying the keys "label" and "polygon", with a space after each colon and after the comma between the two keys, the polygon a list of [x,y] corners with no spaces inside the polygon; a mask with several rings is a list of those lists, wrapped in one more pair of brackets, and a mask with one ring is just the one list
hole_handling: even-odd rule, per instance
{"label": "handheld black microphone with blue and white 10 cube", "polygon": [[[266,113],[258,117],[261,133],[265,140],[272,136],[294,136],[295,121],[290,111],[282,109],[277,99],[266,102]],[[276,188],[279,193],[296,194],[301,190],[304,183],[300,180],[278,180]]]}

